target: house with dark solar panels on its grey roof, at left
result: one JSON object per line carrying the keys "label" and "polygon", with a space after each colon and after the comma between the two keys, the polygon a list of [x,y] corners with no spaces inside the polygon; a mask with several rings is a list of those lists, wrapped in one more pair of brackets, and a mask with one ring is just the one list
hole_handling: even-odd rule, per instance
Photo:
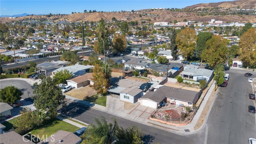
{"label": "house with dark solar panels on its grey roof, at left", "polygon": [[42,64],[36,65],[36,68],[39,69],[40,72],[46,73],[47,76],[51,76],[52,72],[60,67],[65,67],[69,65],[71,62],[68,61],[52,61],[52,62],[43,62]]}

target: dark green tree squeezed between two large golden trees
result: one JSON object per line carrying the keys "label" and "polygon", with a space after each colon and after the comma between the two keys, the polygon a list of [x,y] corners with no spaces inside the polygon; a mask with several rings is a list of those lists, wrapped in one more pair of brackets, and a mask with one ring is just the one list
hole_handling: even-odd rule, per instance
{"label": "dark green tree squeezed between two large golden trees", "polygon": [[196,57],[201,58],[202,51],[206,48],[206,41],[212,38],[211,32],[199,32],[196,42]]}

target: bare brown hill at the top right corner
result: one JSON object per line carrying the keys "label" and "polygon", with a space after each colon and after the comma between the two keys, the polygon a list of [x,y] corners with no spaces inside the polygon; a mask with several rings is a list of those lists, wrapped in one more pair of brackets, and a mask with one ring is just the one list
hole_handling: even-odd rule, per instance
{"label": "bare brown hill at the top right corner", "polygon": [[256,0],[235,0],[226,2],[216,2],[216,3],[202,3],[195,4],[193,6],[187,6],[185,8],[254,8],[256,9]]}

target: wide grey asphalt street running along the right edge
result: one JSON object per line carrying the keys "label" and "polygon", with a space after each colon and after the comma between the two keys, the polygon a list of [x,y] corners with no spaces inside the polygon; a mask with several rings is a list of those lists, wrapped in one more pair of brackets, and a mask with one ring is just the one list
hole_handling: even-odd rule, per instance
{"label": "wide grey asphalt street running along the right edge", "polygon": [[[255,114],[248,112],[254,105],[248,94],[253,92],[245,70],[230,69],[228,86],[220,88],[208,117],[206,127],[207,144],[246,144],[256,138]],[[256,77],[256,72],[252,78]]]}

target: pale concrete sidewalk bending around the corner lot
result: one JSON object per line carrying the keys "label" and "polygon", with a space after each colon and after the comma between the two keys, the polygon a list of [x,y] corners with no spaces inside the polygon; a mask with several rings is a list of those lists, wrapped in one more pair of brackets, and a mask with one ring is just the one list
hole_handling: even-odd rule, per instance
{"label": "pale concrete sidewalk bending around the corner lot", "polygon": [[[103,112],[106,112],[106,113],[109,113],[109,114],[112,114],[112,115],[115,115],[115,116],[119,116],[119,117],[122,117],[122,118],[125,118],[125,119],[128,119],[128,120],[132,120],[134,122],[144,123],[148,126],[158,127],[158,128],[162,128],[164,130],[168,130],[168,131],[170,130],[172,132],[195,132],[196,130],[194,130],[194,127],[196,126],[196,123],[198,122],[198,119],[200,118],[200,115],[201,115],[201,113],[202,113],[202,111],[203,111],[203,109],[204,109],[204,107],[207,103],[208,98],[210,97],[210,95],[212,94],[212,91],[214,90],[214,86],[215,86],[214,84],[215,83],[213,83],[210,86],[206,96],[204,97],[204,100],[202,101],[202,104],[200,105],[200,107],[199,107],[198,111],[196,112],[194,118],[192,119],[191,123],[186,125],[186,126],[170,126],[170,125],[163,124],[163,123],[160,123],[160,122],[155,122],[155,121],[152,121],[152,120],[149,120],[149,119],[145,119],[145,118],[141,118],[141,117],[137,117],[137,116],[132,116],[132,115],[124,113],[124,112],[113,113],[111,109],[107,109],[106,107],[100,106],[98,104],[93,104],[93,103],[90,103],[90,102],[87,102],[87,101],[84,101],[84,100],[80,100],[78,98],[74,98],[72,96],[67,96],[67,95],[66,95],[66,98],[69,99],[70,101],[78,102],[80,104],[90,106],[91,108],[94,108],[96,110],[101,110]],[[215,97],[216,97],[216,95],[215,95]],[[207,119],[207,117],[208,117],[208,115],[206,116],[206,119]],[[204,120],[204,122],[206,122],[206,120]],[[203,123],[202,126],[204,126],[204,123]]]}

